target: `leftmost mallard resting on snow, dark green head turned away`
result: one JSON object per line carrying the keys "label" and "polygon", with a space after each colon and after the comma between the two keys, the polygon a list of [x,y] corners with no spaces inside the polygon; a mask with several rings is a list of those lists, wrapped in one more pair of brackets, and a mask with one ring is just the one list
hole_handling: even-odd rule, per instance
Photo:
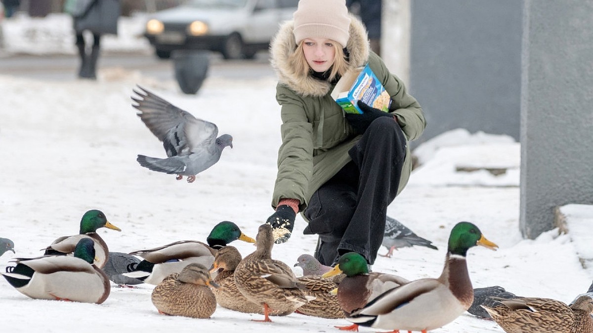
{"label": "leftmost mallard resting on snow, dark green head turned away", "polygon": [[91,238],[82,238],[74,256],[50,255],[17,258],[2,276],[18,292],[33,299],[103,303],[111,291],[109,278],[94,263]]}

